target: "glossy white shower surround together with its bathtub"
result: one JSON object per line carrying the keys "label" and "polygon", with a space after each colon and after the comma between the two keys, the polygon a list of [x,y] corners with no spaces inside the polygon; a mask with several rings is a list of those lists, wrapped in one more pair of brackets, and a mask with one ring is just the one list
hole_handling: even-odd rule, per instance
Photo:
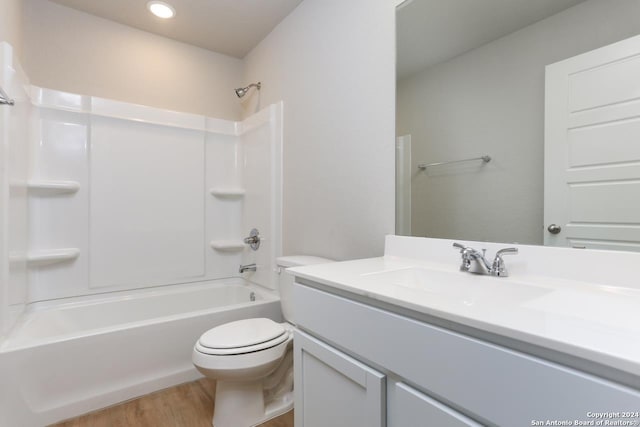
{"label": "glossy white shower surround together with its bathtub", "polygon": [[0,85],[0,425],[190,380],[184,337],[280,320],[282,103],[233,122],[34,87],[6,43]]}

